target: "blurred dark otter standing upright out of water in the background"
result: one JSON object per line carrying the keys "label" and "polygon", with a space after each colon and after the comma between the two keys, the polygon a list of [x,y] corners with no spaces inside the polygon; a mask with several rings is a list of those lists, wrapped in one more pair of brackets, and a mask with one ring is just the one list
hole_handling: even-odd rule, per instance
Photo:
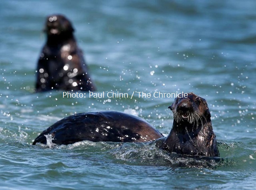
{"label": "blurred dark otter standing upright out of water in the background", "polygon": [[71,22],[63,15],[48,16],[44,32],[47,41],[36,69],[36,92],[96,90],[82,50],[76,44]]}

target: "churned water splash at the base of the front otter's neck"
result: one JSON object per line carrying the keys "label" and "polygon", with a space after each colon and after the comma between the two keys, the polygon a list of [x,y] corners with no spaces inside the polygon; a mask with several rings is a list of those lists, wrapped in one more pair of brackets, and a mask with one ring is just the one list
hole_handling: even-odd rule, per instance
{"label": "churned water splash at the base of the front otter's neck", "polygon": [[155,146],[155,143],[124,143],[111,150],[116,162],[129,165],[170,166],[213,169],[219,165],[220,158],[188,156],[168,153]]}

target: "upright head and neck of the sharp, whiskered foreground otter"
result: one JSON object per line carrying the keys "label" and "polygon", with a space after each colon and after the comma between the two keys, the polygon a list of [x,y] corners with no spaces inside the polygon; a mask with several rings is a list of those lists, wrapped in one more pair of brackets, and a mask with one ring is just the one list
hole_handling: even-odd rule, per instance
{"label": "upright head and neck of the sharp, whiskered foreground otter", "polygon": [[187,98],[176,98],[168,108],[174,121],[169,135],[157,142],[159,148],[180,154],[220,156],[204,98],[188,93]]}

